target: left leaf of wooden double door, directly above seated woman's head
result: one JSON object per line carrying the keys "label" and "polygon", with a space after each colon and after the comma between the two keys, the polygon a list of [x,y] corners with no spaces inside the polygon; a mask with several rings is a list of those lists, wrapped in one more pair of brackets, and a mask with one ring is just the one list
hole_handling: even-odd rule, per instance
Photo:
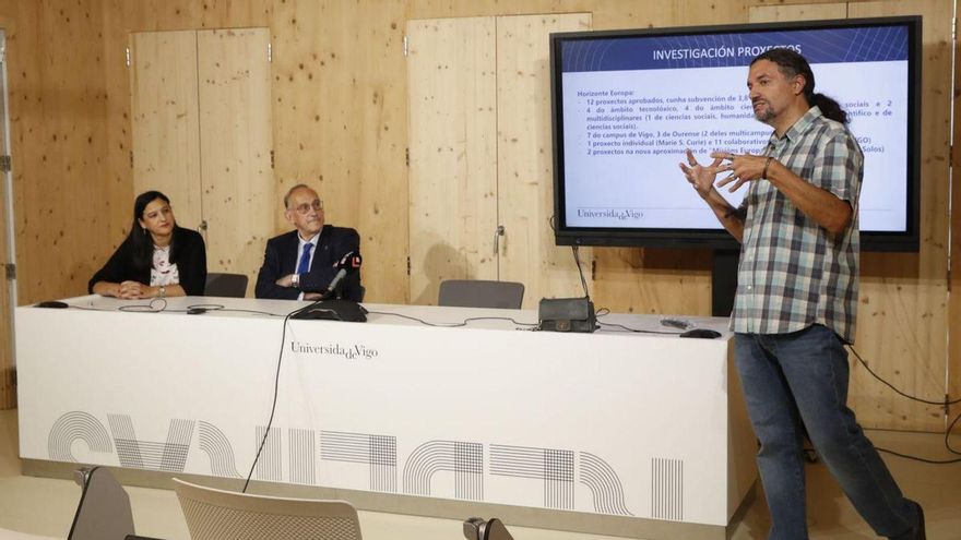
{"label": "left leaf of wooden double door, directly above seated woman's head", "polygon": [[197,32],[131,34],[130,52],[133,191],[162,191],[177,224],[200,229]]}

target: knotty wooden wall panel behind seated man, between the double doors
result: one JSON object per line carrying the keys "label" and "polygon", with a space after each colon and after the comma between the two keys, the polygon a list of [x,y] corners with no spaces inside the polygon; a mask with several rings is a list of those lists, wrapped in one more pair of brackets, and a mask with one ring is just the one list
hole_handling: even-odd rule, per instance
{"label": "knotty wooden wall panel behind seated man, between the double doors", "polygon": [[327,220],[360,233],[366,300],[406,302],[405,3],[273,9],[278,193],[313,185]]}

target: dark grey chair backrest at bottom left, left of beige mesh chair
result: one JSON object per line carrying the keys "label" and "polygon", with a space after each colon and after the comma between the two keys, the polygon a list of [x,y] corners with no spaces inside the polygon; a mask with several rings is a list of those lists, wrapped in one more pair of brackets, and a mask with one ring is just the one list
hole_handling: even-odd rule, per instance
{"label": "dark grey chair backrest at bottom left, left of beige mesh chair", "polygon": [[103,467],[81,469],[83,488],[68,540],[123,540],[133,535],[133,513],[123,487]]}

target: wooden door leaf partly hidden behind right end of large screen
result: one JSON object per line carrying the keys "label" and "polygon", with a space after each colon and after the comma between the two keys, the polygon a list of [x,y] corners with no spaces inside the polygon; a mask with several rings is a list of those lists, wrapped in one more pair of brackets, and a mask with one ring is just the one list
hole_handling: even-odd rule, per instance
{"label": "wooden door leaf partly hidden behind right end of large screen", "polygon": [[[923,14],[921,251],[862,255],[857,349],[903,392],[929,400],[946,393],[948,333],[948,179],[951,20],[942,0],[852,3],[851,17]],[[892,429],[944,429],[942,407],[893,395],[859,365],[852,399],[870,403],[862,421]]]}

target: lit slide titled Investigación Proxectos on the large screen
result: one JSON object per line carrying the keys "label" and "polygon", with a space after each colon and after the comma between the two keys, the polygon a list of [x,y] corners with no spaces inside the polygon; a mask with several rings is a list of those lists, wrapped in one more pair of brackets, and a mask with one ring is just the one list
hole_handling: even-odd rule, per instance
{"label": "lit slide titled Investigaci\u00f3n Proxectos on the large screen", "polygon": [[[861,229],[907,227],[907,31],[830,28],[612,37],[561,47],[568,227],[717,229],[678,168],[685,149],[762,154],[772,129],[754,117],[748,63],[788,47],[811,63],[816,92],[838,100],[865,155]],[[723,178],[719,176],[719,180]],[[721,191],[738,205],[747,185]]]}

